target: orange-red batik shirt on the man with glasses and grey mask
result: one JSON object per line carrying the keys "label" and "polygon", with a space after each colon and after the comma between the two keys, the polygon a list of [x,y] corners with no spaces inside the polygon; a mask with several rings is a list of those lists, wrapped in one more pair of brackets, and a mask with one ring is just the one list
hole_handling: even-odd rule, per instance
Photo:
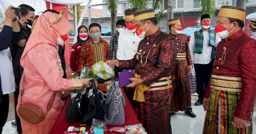
{"label": "orange-red batik shirt on the man with glasses and grey mask", "polygon": [[81,56],[79,60],[79,70],[84,68],[84,65],[92,67],[93,64],[99,61],[109,60],[108,42],[99,38],[99,42],[95,43],[92,38],[85,41],[81,48]]}

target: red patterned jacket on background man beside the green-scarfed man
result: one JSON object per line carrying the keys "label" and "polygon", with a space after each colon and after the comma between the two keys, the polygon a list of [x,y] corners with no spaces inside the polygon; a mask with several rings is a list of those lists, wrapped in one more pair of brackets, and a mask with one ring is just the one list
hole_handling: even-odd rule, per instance
{"label": "red patterned jacket on background man beside the green-scarfed man", "polygon": [[189,51],[189,44],[187,43],[188,37],[186,34],[178,34],[177,36],[174,34],[171,34],[172,39],[175,40],[175,43],[177,44],[177,53],[184,53],[186,54],[186,60],[188,62],[188,65],[192,65],[191,55]]}

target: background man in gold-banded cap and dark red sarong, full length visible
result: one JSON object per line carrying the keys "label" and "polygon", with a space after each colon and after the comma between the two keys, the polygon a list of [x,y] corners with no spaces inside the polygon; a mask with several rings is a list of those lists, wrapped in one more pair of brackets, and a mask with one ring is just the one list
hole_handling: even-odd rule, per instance
{"label": "background man in gold-banded cap and dark red sarong, full length visible", "polygon": [[189,51],[188,37],[181,34],[182,27],[180,19],[169,20],[169,29],[172,39],[177,44],[177,58],[172,67],[173,95],[172,114],[178,111],[185,111],[191,117],[196,117],[191,108],[191,91],[189,74],[192,71],[192,60]]}

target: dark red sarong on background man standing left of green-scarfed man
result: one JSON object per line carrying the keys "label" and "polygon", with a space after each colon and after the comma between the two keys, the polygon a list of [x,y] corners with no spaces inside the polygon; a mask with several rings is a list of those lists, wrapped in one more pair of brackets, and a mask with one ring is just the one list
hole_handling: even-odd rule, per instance
{"label": "dark red sarong on background man standing left of green-scarfed man", "polygon": [[189,66],[187,60],[175,60],[174,66],[172,67],[172,81],[171,111],[186,111],[186,107],[191,107]]}

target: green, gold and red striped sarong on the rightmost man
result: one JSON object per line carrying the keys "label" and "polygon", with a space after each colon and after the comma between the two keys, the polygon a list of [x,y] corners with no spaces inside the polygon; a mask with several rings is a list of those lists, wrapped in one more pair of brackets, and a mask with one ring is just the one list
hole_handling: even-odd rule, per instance
{"label": "green, gold and red striped sarong on the rightmost man", "polygon": [[247,128],[237,129],[232,125],[239,92],[212,89],[209,108],[204,120],[203,134],[252,134],[253,124]]}

